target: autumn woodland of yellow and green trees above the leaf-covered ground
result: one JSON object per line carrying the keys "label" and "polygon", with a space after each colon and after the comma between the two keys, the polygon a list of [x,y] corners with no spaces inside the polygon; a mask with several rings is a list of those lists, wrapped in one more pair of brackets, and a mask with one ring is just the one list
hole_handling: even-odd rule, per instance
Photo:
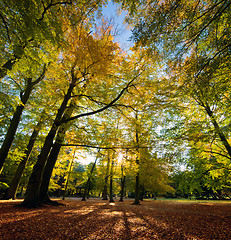
{"label": "autumn woodland of yellow and green trees above the leaf-covered ground", "polygon": [[114,3],[0,1],[2,198],[230,199],[231,1]]}

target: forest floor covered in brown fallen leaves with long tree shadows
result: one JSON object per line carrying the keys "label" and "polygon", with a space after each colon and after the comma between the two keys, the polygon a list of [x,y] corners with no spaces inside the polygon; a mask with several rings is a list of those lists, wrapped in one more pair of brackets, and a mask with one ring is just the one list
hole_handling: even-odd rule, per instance
{"label": "forest floor covered in brown fallen leaves with long tree shadows", "polygon": [[231,203],[100,199],[38,209],[0,201],[0,239],[231,239]]}

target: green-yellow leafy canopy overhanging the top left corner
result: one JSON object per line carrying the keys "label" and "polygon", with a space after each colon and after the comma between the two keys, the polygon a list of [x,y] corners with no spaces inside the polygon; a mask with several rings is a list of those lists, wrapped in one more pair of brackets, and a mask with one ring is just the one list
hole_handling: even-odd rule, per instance
{"label": "green-yellow leafy canopy overhanging the top left corner", "polygon": [[[25,59],[38,60],[65,45],[64,19],[74,23],[91,15],[103,1],[3,0],[0,3],[0,78]],[[45,54],[45,55],[46,55]],[[43,55],[44,56],[44,55]],[[24,66],[25,67],[25,66]]]}

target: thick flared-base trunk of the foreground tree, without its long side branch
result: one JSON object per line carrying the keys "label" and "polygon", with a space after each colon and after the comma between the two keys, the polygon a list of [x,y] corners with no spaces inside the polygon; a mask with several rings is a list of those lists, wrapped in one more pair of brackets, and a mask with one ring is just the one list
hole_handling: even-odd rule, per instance
{"label": "thick flared-base trunk of the foreground tree, without its long side branch", "polygon": [[48,155],[53,146],[53,140],[58,131],[60,121],[62,119],[64,111],[67,108],[67,103],[71,98],[71,93],[72,93],[74,86],[75,86],[74,84],[70,84],[68,92],[65,95],[64,100],[58,110],[58,113],[57,113],[54,123],[51,127],[51,130],[49,131],[49,133],[45,139],[44,145],[41,149],[41,153],[38,156],[37,162],[34,165],[32,174],[30,176],[26,194],[25,194],[25,199],[21,203],[22,206],[36,207],[36,206],[41,205],[40,198],[39,198],[39,191],[40,191],[41,181],[42,181],[42,177],[43,177],[44,166],[47,162]]}

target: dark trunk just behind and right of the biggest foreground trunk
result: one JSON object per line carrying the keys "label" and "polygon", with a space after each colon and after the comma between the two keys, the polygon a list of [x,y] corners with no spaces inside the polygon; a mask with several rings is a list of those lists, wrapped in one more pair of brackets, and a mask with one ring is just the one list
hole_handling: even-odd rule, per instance
{"label": "dark trunk just behind and right of the biggest foreground trunk", "polygon": [[[63,119],[69,118],[71,116],[73,110],[74,110],[74,106],[70,105],[70,107],[65,111],[65,113],[63,115]],[[47,199],[48,199],[47,192],[48,192],[50,179],[52,176],[52,171],[54,169],[55,163],[57,161],[57,158],[58,158],[58,155],[59,155],[59,152],[61,149],[60,144],[63,143],[63,141],[64,141],[65,133],[66,133],[68,127],[69,127],[69,124],[66,123],[66,124],[61,125],[61,127],[59,128],[54,146],[52,147],[49,157],[47,159],[47,163],[44,168],[40,191],[39,191],[39,199],[40,199],[40,202],[42,202],[42,203],[47,203]]]}

